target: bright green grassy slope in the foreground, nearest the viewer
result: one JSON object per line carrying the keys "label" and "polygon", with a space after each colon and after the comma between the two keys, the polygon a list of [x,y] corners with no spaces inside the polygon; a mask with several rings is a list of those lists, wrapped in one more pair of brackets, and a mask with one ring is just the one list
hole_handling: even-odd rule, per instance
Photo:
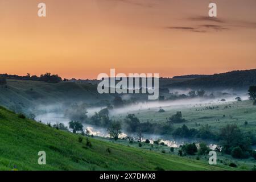
{"label": "bright green grassy slope in the foreground, nearest the viewer", "polygon": [[[0,107],[0,170],[224,170],[193,159],[142,150],[60,131]],[[107,150],[109,148],[109,150]],[[46,165],[38,152],[46,151]],[[109,152],[110,151],[110,152]]]}

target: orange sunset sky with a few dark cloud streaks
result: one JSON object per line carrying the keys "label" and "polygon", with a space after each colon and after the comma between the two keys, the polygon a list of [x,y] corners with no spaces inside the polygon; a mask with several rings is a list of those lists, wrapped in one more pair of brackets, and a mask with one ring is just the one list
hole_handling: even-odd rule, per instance
{"label": "orange sunset sky with a few dark cloud streaks", "polygon": [[[41,2],[46,17],[38,16]],[[0,73],[85,79],[110,68],[161,77],[254,69],[255,7],[255,0],[0,0]]]}

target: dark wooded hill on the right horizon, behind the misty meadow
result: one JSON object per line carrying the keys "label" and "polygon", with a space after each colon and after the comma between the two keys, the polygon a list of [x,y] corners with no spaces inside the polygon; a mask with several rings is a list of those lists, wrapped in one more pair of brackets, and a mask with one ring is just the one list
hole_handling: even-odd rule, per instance
{"label": "dark wooded hill on the right horizon, behind the misty meadow", "polygon": [[248,89],[250,85],[256,85],[256,69],[245,71],[232,71],[199,77],[183,82],[164,85],[167,88],[191,88],[191,89]]}

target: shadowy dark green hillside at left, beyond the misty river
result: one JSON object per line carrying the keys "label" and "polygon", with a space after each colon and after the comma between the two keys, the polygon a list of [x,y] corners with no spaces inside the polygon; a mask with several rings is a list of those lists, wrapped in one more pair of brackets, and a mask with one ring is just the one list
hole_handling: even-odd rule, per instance
{"label": "shadowy dark green hillside at left, beyond the misty river", "polygon": [[112,98],[109,94],[98,94],[97,85],[77,82],[52,84],[43,81],[7,80],[0,85],[0,105],[26,113],[39,104],[60,104],[63,102],[97,103]]}

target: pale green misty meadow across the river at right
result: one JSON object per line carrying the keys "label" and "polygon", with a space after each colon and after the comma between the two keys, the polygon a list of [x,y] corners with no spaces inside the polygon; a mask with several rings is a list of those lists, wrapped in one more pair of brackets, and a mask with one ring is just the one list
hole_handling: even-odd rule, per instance
{"label": "pale green misty meadow across the river at right", "polygon": [[[163,102],[164,103],[164,102]],[[217,109],[206,109],[206,107],[216,107]],[[192,105],[177,105],[163,106],[164,113],[159,113],[159,107],[151,109],[140,109],[137,111],[128,111],[130,114],[135,114],[141,122],[150,121],[153,123],[166,122],[166,118],[181,111],[183,118],[187,120],[184,123],[175,123],[174,127],[187,125],[199,129],[201,125],[212,126],[213,131],[218,131],[227,124],[237,124],[242,130],[251,131],[256,134],[256,106],[253,101],[230,101],[207,104],[192,104]],[[127,113],[114,115],[112,119],[123,119]],[[224,117],[225,115],[225,117]],[[245,121],[248,125],[245,125]]]}

